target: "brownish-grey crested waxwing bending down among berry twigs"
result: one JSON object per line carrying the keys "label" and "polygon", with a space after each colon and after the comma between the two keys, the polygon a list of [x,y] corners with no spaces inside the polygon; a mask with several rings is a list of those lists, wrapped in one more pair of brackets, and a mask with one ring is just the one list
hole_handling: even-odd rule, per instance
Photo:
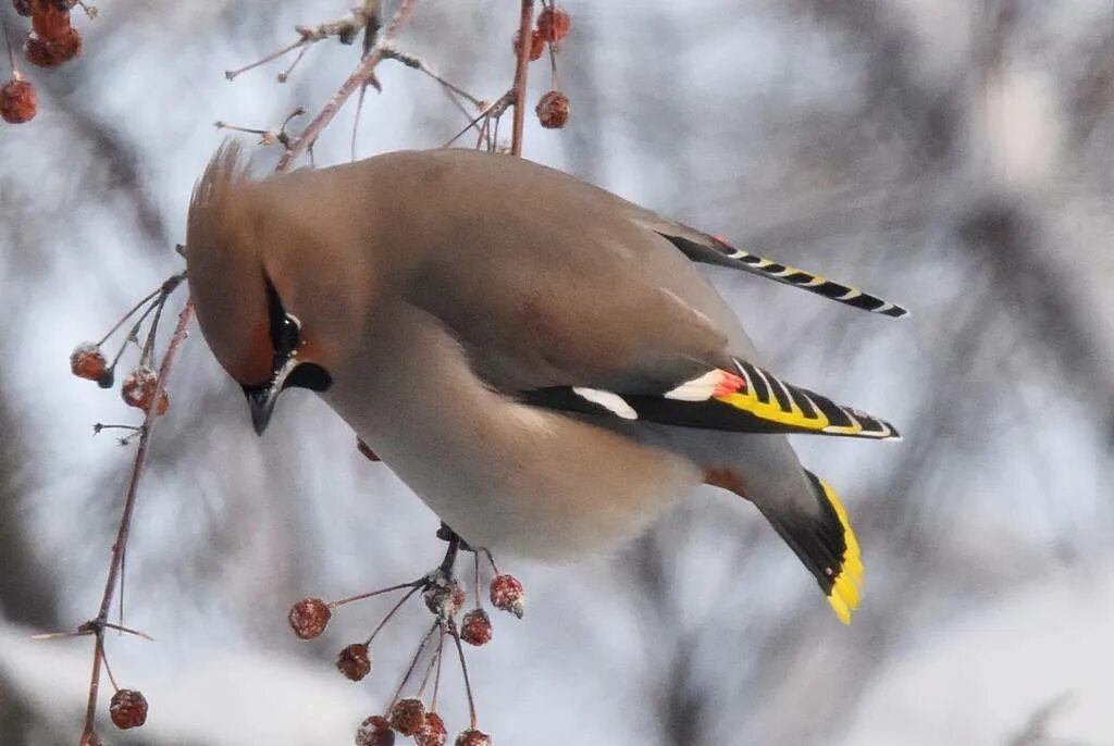
{"label": "brownish-grey crested waxwing bending down among berry twigs", "polygon": [[256,433],[284,390],[315,392],[471,547],[606,553],[712,484],[758,508],[841,621],[858,608],[847,510],[786,435],[900,435],[764,367],[701,265],[906,308],[467,149],[256,178],[225,143],[192,195],[186,261]]}

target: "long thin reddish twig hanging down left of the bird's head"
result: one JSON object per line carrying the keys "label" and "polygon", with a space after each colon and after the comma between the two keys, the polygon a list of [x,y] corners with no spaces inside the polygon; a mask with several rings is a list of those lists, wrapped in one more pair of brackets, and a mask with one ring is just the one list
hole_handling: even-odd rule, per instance
{"label": "long thin reddish twig hanging down left of the bird's head", "polygon": [[[182,312],[178,314],[178,325],[174,330],[174,335],[170,337],[170,342],[166,347],[166,354],[163,356],[163,364],[158,371],[158,377],[155,380],[155,391],[160,392],[166,389],[166,382],[169,380],[170,370],[174,366],[175,357],[177,357],[178,349],[182,346],[182,342],[186,338],[186,327],[189,325],[189,321],[194,315],[194,302],[193,300],[187,300],[185,306],[183,306]],[[92,739],[94,737],[94,724],[97,716],[97,695],[100,689],[100,664],[105,656],[105,627],[108,621],[108,609],[113,605],[113,595],[116,591],[116,582],[119,577],[120,571],[120,560],[124,553],[124,548],[127,546],[128,534],[131,530],[131,516],[135,512],[136,498],[139,494],[139,478],[143,475],[144,465],[147,463],[148,445],[150,443],[150,436],[155,430],[155,421],[158,418],[158,406],[152,405],[147,410],[147,418],[144,420],[143,434],[139,438],[139,448],[136,450],[136,458],[131,464],[131,477],[128,480],[128,488],[124,495],[124,509],[120,513],[120,526],[116,532],[116,541],[113,543],[113,556],[108,563],[108,577],[105,579],[105,592],[100,598],[100,609],[97,612],[96,618],[96,630],[95,635],[97,642],[94,646],[92,654],[92,674],[89,677],[89,699],[86,703],[85,709],[85,729],[81,733],[82,738]]]}

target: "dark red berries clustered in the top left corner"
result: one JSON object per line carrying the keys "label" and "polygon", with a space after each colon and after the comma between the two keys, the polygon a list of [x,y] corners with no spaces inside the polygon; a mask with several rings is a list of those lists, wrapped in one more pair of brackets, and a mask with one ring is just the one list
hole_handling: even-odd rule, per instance
{"label": "dark red berries clustered in the top left corner", "polygon": [[[23,42],[23,56],[38,67],[58,67],[81,53],[81,35],[70,24],[76,0],[12,0],[16,12],[31,19],[31,32]],[[39,108],[35,85],[12,69],[11,79],[0,88],[0,118],[19,125],[35,118]]]}

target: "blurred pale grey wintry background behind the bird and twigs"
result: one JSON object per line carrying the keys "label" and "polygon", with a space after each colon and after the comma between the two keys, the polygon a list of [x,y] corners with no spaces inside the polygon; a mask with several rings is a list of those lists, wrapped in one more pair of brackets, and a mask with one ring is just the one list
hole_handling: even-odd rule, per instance
{"label": "blurred pale grey wintry background behind the bird and twigs", "polygon": [[[38,117],[0,130],[2,744],[77,740],[90,640],[29,636],[95,615],[134,455],[90,425],[136,410],[72,377],[69,353],[182,266],[189,192],[224,137],[212,122],[315,111],[359,51],[317,45],[285,85],[284,62],[224,70],[350,4],[106,0],[95,21],[75,13],[82,58],[28,71]],[[564,4],[573,116],[543,130],[531,111],[525,155],[908,305],[892,322],[711,271],[770,367],[906,440],[794,441],[864,546],[849,628],[756,511],[712,488],[610,557],[502,558],[530,600],[471,651],[481,727],[531,746],[1114,744],[1110,0]],[[494,100],[517,6],[420,2],[398,46]],[[549,75],[530,72],[532,109]],[[431,79],[393,62],[379,78],[361,156],[438,147],[466,124]],[[349,157],[353,114],[319,164]],[[261,168],[277,159],[258,150]],[[255,438],[199,334],[169,393],[126,583],[127,624],[157,642],[107,640],[152,714],[100,733],[352,743],[427,612],[403,612],[352,684],[335,651],[389,602],[346,607],[307,644],[286,610],[429,569],[434,517],[309,393]],[[451,734],[466,710],[446,676]]]}

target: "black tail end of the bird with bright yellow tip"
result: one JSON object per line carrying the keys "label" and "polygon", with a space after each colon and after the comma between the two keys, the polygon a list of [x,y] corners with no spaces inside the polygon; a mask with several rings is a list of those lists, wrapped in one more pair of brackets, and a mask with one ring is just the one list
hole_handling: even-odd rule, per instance
{"label": "black tail end of the bird with bright yellow tip", "polygon": [[844,625],[859,606],[862,559],[847,510],[839,495],[822,479],[805,470],[819,512],[782,512],[759,505],[762,514],[781,534],[820,583],[836,616]]}

